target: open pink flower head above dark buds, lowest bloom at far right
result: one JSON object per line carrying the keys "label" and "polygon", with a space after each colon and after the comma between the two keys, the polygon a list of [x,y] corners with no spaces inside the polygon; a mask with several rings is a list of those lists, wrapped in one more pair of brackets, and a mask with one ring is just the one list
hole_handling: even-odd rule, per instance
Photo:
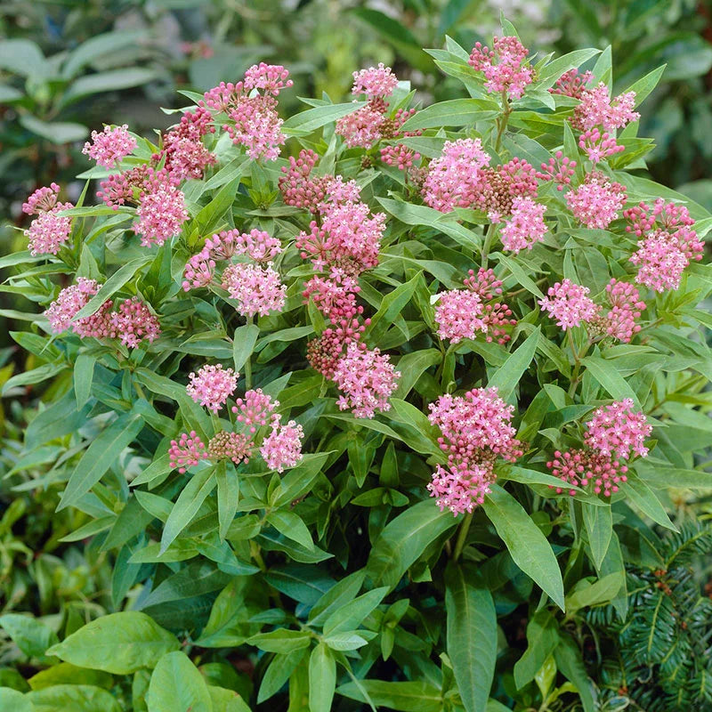
{"label": "open pink flower head above dark buds, lowest bloom at far right", "polygon": [[589,448],[607,457],[627,460],[632,453],[645,457],[645,438],[652,432],[645,414],[633,410],[633,400],[614,401],[594,411],[586,424],[584,440]]}

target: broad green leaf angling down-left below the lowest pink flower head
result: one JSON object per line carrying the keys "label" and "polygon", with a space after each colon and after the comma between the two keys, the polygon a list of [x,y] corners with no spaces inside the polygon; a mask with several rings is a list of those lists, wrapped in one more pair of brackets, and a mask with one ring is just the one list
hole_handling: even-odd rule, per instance
{"label": "broad green leaf angling down-left below the lowest pink flower head", "polygon": [[395,587],[425,548],[456,523],[452,514],[441,512],[430,499],[409,507],[376,539],[368,556],[366,575],[374,586]]}

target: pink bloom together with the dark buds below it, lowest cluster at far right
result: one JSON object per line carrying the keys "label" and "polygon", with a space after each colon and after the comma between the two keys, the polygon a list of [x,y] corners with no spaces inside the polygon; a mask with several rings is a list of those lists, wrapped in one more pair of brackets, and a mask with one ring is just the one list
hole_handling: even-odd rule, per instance
{"label": "pink bloom together with the dark buds below it, lowest cluster at far right", "polygon": [[[627,481],[624,462],[634,456],[647,456],[644,441],[651,432],[652,426],[643,412],[634,411],[631,399],[596,409],[586,424],[586,447],[563,453],[556,450],[554,459],[546,463],[554,476],[565,483],[556,488],[557,493],[573,485],[611,497],[619,490],[619,483]],[[570,490],[571,495],[575,493]]]}

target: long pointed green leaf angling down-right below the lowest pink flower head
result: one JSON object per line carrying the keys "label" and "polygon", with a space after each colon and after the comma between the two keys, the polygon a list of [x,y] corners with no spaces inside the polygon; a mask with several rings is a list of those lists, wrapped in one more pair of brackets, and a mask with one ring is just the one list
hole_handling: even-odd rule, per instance
{"label": "long pointed green leaf angling down-right below the lowest pink flower head", "polygon": [[482,505],[514,563],[563,609],[563,581],[559,563],[538,526],[512,495],[493,485]]}

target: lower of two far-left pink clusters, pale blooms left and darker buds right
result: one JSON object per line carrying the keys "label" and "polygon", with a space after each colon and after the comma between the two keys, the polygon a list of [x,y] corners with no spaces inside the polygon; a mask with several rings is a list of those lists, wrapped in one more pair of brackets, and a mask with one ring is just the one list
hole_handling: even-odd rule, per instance
{"label": "lower of two far-left pink clusters, pale blooms left and darker buds right", "polygon": [[118,338],[122,344],[135,348],[145,339],[153,342],[160,335],[160,326],[148,306],[138,297],[126,299],[117,305],[109,299],[91,316],[74,320],[79,312],[97,294],[101,285],[94,279],[80,277],[77,284],[61,290],[44,315],[55,334],[71,329],[82,338]]}

